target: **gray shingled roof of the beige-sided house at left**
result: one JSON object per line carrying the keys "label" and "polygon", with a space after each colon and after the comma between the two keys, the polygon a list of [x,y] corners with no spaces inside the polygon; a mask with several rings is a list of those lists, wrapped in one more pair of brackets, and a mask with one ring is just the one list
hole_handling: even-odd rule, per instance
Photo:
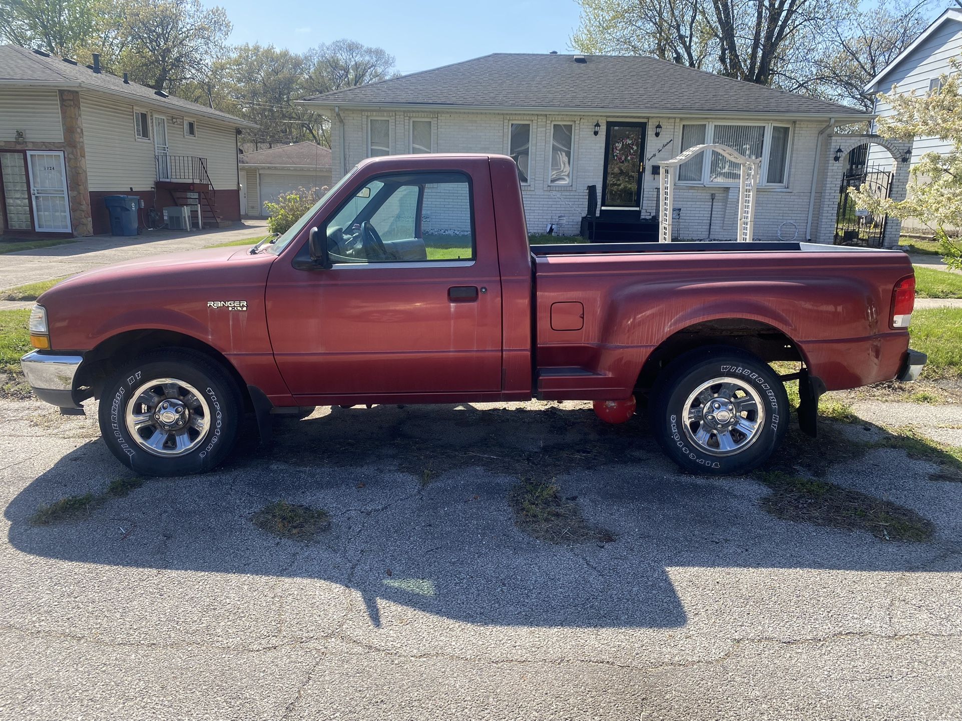
{"label": "gray shingled roof of the beige-sided house at left", "polygon": [[254,123],[241,120],[226,112],[215,111],[173,95],[161,97],[150,87],[140,86],[137,83],[124,83],[122,78],[108,72],[95,73],[87,65],[79,62],[74,65],[64,62],[61,58],[44,57],[18,45],[0,45],[0,86],[3,85],[81,87],[111,95],[126,96],[155,108],[169,108],[171,111],[219,118],[244,127],[257,127]]}

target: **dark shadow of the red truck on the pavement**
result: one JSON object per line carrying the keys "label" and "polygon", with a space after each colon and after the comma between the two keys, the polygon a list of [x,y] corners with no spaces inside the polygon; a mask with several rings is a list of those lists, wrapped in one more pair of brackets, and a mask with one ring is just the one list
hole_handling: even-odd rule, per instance
{"label": "dark shadow of the red truck on the pavement", "polygon": [[[947,509],[962,485],[928,481],[899,451],[837,475],[928,514],[934,543],[778,520],[756,481],[682,474],[640,417],[608,426],[583,407],[325,409],[279,417],[272,446],[256,443],[248,431],[214,473],[151,479],[80,520],[33,525],[38,505],[129,475],[90,440],[13,499],[10,542],[50,559],[338,584],[336,605],[316,590],[317,614],[363,604],[375,626],[407,608],[475,624],[675,628],[686,613],[672,569],[960,570],[962,520]],[[507,501],[519,478],[553,481],[615,539],[526,535]],[[330,530],[267,535],[250,517],[277,499],[329,511]]]}

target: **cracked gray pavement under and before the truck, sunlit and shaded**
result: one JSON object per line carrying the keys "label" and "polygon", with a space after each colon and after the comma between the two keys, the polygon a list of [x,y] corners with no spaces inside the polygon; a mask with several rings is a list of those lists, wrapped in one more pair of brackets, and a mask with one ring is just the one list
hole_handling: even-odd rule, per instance
{"label": "cracked gray pavement under and before the truck, sunlit and shaded", "polygon": [[[92,413],[3,402],[0,718],[962,718],[962,484],[894,449],[833,466],[936,524],[886,543],[589,408],[278,417],[269,449],[248,429],[214,473],[33,526],[129,472]],[[616,540],[521,533],[508,490],[539,472]],[[278,498],[330,531],[255,528]]]}

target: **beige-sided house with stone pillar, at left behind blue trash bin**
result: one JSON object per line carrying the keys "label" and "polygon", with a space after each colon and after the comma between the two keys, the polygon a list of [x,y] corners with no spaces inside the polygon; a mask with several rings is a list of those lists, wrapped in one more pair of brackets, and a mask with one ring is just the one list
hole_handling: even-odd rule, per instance
{"label": "beige-sided house with stone pillar, at left behind blue trash bin", "polygon": [[[240,219],[245,120],[90,65],[0,45],[0,235],[110,232],[104,196],[150,211],[199,205],[205,225]],[[196,216],[196,211],[194,211]]]}

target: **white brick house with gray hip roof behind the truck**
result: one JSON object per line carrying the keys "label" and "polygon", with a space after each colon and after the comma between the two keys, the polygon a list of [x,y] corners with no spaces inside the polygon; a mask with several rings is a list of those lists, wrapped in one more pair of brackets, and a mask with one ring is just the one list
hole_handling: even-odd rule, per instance
{"label": "white brick house with gray hip roof behind the truck", "polygon": [[[833,151],[872,139],[835,136],[869,113],[641,57],[494,54],[301,102],[333,118],[334,181],[371,156],[510,155],[529,232],[559,235],[578,234],[589,186],[600,218],[651,228],[659,162],[714,141],[762,159],[757,238],[830,243],[843,172]],[[717,154],[683,166],[676,237],[734,239],[737,178]]]}

